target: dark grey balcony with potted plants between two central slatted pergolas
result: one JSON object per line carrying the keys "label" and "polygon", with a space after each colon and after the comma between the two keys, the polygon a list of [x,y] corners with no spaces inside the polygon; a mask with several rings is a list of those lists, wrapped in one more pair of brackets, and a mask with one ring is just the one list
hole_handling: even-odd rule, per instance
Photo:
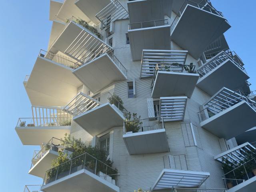
{"label": "dark grey balcony with potted plants between two central slatted pergolas", "polygon": [[196,66],[158,63],[152,78],[152,98],[166,96],[191,97],[198,81]]}

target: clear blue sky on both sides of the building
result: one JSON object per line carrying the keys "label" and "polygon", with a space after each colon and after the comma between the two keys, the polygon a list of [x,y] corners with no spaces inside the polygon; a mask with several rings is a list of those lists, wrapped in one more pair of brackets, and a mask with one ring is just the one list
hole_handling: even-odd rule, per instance
{"label": "clear blue sky on both sides of the building", "polygon": [[[14,128],[19,117],[31,117],[31,104],[22,84],[40,49],[47,49],[51,21],[49,0],[0,0],[0,184],[1,191],[22,191],[26,184],[42,184],[28,174],[36,146],[22,146]],[[225,33],[231,50],[242,58],[256,90],[255,0],[212,0],[232,28]],[[189,30],[189,29],[188,29]]]}

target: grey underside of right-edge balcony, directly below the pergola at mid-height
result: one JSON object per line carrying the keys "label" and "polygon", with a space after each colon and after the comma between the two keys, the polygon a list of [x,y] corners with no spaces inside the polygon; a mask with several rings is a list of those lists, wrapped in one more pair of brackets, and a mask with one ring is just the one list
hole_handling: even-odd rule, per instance
{"label": "grey underside of right-edge balcony, directly below the pergola at mid-height", "polygon": [[219,138],[231,139],[256,126],[256,111],[242,101],[202,121],[201,127]]}

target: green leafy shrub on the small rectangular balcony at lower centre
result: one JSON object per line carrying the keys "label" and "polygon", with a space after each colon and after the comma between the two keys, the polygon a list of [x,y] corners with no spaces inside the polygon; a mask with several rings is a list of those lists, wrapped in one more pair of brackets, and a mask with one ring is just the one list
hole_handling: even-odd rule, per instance
{"label": "green leafy shrub on the small rectangular balcony at lower centre", "polygon": [[[132,120],[131,117],[133,118]],[[126,132],[132,131],[133,133],[136,133],[140,130],[140,128],[142,128],[142,122],[140,121],[140,116],[137,116],[137,113],[131,114],[130,112],[128,112],[125,121]]]}

